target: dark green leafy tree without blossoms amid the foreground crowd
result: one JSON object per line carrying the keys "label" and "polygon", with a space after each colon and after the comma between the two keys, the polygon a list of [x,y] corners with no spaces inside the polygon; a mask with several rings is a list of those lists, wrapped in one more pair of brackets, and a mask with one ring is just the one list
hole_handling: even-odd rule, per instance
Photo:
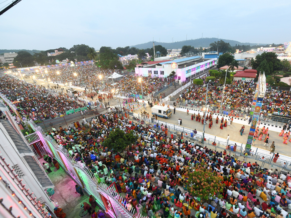
{"label": "dark green leafy tree without blossoms amid the foreground crowd", "polygon": [[119,128],[111,131],[109,136],[102,142],[102,145],[108,147],[114,153],[123,152],[127,146],[133,144],[137,140],[137,135],[131,130],[129,133],[125,134]]}

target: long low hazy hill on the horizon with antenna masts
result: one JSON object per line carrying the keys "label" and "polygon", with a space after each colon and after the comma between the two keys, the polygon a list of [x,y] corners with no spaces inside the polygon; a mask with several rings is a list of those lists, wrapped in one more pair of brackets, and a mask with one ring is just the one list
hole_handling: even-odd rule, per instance
{"label": "long low hazy hill on the horizon with antenna masts", "polygon": [[[200,48],[200,47],[208,47],[210,43],[215,42],[215,41],[220,41],[223,40],[224,42],[229,42],[231,46],[235,46],[235,44],[239,45],[266,45],[262,43],[249,43],[249,42],[238,42],[235,40],[228,40],[228,39],[217,39],[217,38],[200,38],[200,39],[193,39],[193,40],[184,40],[180,42],[155,42],[155,45],[162,45],[166,49],[182,49],[183,45],[191,45],[194,48]],[[138,45],[133,45],[130,47],[136,47],[138,49],[147,49],[147,48],[152,48],[153,44],[152,42],[147,42],[143,44],[138,44]],[[1,50],[0,50],[1,51]]]}

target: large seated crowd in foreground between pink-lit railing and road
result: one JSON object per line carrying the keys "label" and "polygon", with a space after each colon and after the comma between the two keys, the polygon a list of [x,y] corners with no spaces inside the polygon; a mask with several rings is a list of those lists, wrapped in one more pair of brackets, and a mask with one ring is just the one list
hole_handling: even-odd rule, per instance
{"label": "large seated crowd in foreground between pink-lit railing and road", "polygon": [[[136,142],[121,152],[102,144],[117,128],[137,136]],[[125,195],[128,211],[134,207],[138,213],[158,218],[290,218],[289,172],[262,168],[255,159],[240,161],[227,150],[216,152],[180,137],[173,140],[167,136],[167,126],[158,131],[109,112],[68,128],[53,127],[48,134],[74,161],[87,166],[98,183],[115,182],[118,192]],[[277,161],[280,159],[274,158],[272,164]],[[195,169],[199,165],[224,184],[208,201],[192,196],[187,189],[189,170],[185,167]],[[84,194],[79,187],[77,192]]]}

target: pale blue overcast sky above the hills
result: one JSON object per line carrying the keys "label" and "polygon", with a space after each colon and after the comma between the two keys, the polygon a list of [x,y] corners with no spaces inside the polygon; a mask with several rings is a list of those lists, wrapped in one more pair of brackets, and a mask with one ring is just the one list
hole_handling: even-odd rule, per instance
{"label": "pale blue overcast sky above the hills", "polygon": [[[9,1],[0,0],[0,8]],[[0,16],[0,49],[99,50],[203,37],[249,43],[291,40],[291,1],[22,0]],[[1,9],[2,10],[2,9]]]}

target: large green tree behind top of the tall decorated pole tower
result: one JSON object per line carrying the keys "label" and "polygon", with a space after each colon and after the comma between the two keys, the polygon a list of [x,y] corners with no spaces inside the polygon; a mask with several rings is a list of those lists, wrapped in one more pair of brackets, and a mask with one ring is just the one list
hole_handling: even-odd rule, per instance
{"label": "large green tree behind top of the tall decorated pole tower", "polygon": [[[259,72],[259,66],[264,60],[266,60],[269,68],[267,70],[268,73],[265,72],[266,75],[272,74],[275,70],[283,69],[283,63],[277,58],[277,54],[274,52],[264,52],[261,55],[257,55],[255,59],[251,60],[252,68]],[[272,62],[272,64],[270,64],[270,62]],[[265,63],[263,65],[265,65]],[[260,69],[262,69],[262,67]]]}

